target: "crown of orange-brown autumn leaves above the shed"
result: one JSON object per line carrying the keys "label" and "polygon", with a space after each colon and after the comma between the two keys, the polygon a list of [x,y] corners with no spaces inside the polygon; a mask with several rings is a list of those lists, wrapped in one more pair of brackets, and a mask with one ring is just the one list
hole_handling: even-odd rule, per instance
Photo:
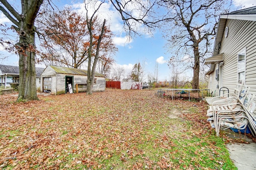
{"label": "crown of orange-brown autumn leaves above the shed", "polygon": [[[88,60],[88,48],[90,45],[90,35],[86,24],[86,18],[66,8],[58,13],[45,12],[44,16],[38,19],[42,29],[41,58],[39,61],[45,64],[62,65],[73,68],[80,66]],[[93,22],[93,50],[96,46],[100,33],[100,19],[96,16]],[[112,42],[112,32],[105,28],[100,51],[102,54],[117,51]]]}

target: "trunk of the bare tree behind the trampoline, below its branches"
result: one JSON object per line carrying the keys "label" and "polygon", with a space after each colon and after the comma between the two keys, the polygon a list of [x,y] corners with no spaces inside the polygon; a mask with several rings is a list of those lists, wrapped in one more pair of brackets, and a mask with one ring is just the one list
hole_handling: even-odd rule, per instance
{"label": "trunk of the bare tree behind the trampoline, below its branches", "polygon": [[198,46],[194,47],[194,75],[192,80],[192,88],[199,89],[199,72],[200,72],[200,60]]}

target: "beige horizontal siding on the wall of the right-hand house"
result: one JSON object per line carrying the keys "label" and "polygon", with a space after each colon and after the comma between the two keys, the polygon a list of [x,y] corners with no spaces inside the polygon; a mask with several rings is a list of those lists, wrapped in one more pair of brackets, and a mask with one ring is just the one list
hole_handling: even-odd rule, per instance
{"label": "beige horizontal siding on the wall of the right-hand house", "polygon": [[[234,92],[238,81],[238,53],[246,49],[246,82],[250,92],[256,95],[256,22],[228,19],[228,36],[222,35],[219,53],[224,53],[222,66],[222,86]],[[225,26],[225,27],[226,27]],[[215,70],[218,67],[216,64]],[[215,79],[215,70],[212,77]]]}

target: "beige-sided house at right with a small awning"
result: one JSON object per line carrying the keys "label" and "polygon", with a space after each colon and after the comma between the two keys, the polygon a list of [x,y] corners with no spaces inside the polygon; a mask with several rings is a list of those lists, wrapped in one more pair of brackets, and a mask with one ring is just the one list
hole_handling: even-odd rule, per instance
{"label": "beige-sided house at right with a small awning", "polygon": [[220,16],[213,56],[204,64],[214,96],[222,87],[234,92],[240,79],[256,95],[256,6]]}

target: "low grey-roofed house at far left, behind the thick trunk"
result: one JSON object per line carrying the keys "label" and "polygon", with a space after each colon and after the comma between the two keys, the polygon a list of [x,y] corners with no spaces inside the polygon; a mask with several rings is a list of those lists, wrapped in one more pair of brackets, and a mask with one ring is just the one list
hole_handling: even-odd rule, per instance
{"label": "low grey-roofed house at far left, behind the thick trunk", "polygon": [[[41,88],[41,74],[44,68],[36,68],[36,88]],[[6,81],[5,81],[6,80]],[[10,83],[19,83],[20,70],[19,66],[8,66],[0,64],[0,85],[5,88],[10,86]]]}

